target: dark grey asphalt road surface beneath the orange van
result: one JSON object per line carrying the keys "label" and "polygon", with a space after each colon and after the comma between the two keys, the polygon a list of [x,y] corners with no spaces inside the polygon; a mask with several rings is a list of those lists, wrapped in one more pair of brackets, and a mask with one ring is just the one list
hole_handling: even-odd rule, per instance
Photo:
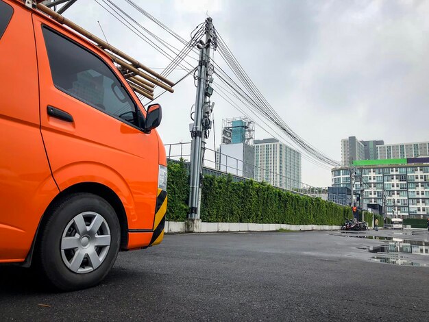
{"label": "dark grey asphalt road surface beneath the orange van", "polygon": [[389,241],[356,238],[428,245],[425,231],[398,234],[170,235],[120,253],[101,285],[73,293],[0,267],[0,320],[428,321],[429,255],[410,255],[420,267],[383,264],[369,249]]}

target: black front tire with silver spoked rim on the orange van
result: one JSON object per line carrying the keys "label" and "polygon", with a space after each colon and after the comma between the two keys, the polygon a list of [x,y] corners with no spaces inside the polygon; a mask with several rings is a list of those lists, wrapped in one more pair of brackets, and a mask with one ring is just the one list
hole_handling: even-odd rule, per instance
{"label": "black front tire with silver spoked rim on the orange van", "polygon": [[[46,215],[49,216],[49,219],[44,227],[41,227],[42,231],[38,242],[37,256],[40,269],[47,277],[47,280],[60,290],[78,290],[95,286],[101,282],[112,268],[120,245],[121,229],[117,214],[114,212],[112,206],[105,199],[97,195],[76,193],[60,200]],[[86,227],[88,234],[91,232],[89,230],[90,226],[88,226],[88,216],[93,216],[94,224],[96,216],[99,221],[103,220],[99,226],[99,230],[97,228],[95,237],[92,237],[93,239],[90,236],[82,237],[84,234],[78,234],[78,230],[73,231],[75,219],[78,216],[79,220],[81,216],[84,219],[85,226],[80,227]],[[82,223],[82,221],[79,221],[79,223]],[[67,230],[66,227],[68,227]],[[96,243],[95,240],[97,238],[108,236],[106,232],[102,233],[102,235],[106,236],[98,236],[102,230],[110,234],[110,240],[103,243],[110,243],[110,245],[98,246],[98,241]],[[69,232],[71,232],[71,235],[67,235]],[[67,258],[71,258],[70,261],[73,262],[73,259],[77,258],[80,248],[62,250],[64,238],[73,239],[73,243],[75,243],[75,240],[78,240],[79,247],[87,247],[84,251],[92,247],[93,251],[91,255],[94,252],[98,253],[100,251],[101,253],[102,251],[103,257],[100,257],[99,263],[97,263],[99,266],[93,264],[89,256],[85,255],[84,259],[80,260],[81,264],[79,264],[78,270],[88,269],[89,271],[72,271],[75,267],[67,267],[66,263],[70,264]],[[89,241],[86,243],[88,238]],[[78,262],[79,260],[76,260],[76,263]],[[96,268],[94,269],[93,267]]]}

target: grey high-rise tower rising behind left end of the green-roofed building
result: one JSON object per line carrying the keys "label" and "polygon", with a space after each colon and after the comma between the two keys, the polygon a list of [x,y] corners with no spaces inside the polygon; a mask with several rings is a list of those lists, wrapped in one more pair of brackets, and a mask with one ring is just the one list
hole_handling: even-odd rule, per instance
{"label": "grey high-rise tower rising behind left end of the green-roofed building", "polygon": [[356,136],[349,136],[341,140],[341,164],[349,166],[355,160],[378,159],[379,145],[383,145],[383,140],[358,140]]}

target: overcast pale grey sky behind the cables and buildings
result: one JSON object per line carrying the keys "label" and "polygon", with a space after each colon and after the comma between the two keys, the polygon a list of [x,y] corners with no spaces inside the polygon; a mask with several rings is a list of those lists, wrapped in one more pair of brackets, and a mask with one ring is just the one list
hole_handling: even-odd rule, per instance
{"label": "overcast pale grey sky behind the cables and buildings", "polygon": [[[102,3],[102,0],[98,0]],[[180,43],[125,0],[113,0],[144,27],[177,48]],[[135,0],[186,40],[213,18],[217,32],[282,119],[330,158],[341,160],[341,138],[408,143],[429,140],[429,1]],[[169,60],[95,0],[79,0],[64,14],[151,68]],[[219,53],[214,60],[221,63]],[[196,65],[196,61],[188,59]],[[159,69],[158,69],[159,68]],[[180,79],[177,69],[169,77]],[[216,89],[217,80],[213,87]],[[215,139],[222,119],[242,116],[215,93]],[[190,142],[193,78],[165,93],[159,132],[164,143]],[[258,121],[258,120],[256,120]],[[256,126],[255,138],[271,135]],[[293,144],[286,138],[282,141]],[[208,147],[213,148],[213,134]],[[303,158],[302,180],[330,186],[330,170]]]}

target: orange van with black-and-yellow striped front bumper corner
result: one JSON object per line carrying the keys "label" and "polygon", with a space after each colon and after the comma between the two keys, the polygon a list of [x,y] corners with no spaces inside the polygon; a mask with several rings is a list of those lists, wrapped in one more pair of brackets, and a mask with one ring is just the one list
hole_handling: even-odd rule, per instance
{"label": "orange van with black-and-yellow striped front bumper corner", "polygon": [[25,1],[0,0],[0,53],[0,263],[93,286],[118,251],[164,236],[161,108],[145,110],[105,51]]}

